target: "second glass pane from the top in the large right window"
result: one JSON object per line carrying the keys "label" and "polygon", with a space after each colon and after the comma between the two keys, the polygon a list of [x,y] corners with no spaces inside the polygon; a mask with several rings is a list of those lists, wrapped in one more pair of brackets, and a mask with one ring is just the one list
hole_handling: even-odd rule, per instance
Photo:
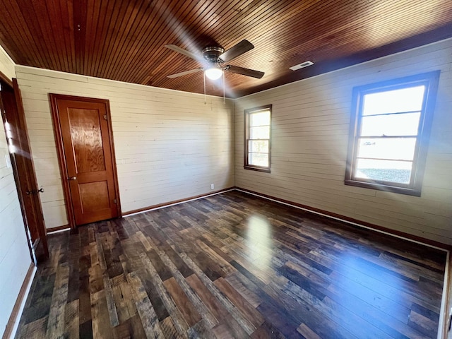
{"label": "second glass pane from the top in the large right window", "polygon": [[416,136],[421,113],[362,117],[361,136]]}

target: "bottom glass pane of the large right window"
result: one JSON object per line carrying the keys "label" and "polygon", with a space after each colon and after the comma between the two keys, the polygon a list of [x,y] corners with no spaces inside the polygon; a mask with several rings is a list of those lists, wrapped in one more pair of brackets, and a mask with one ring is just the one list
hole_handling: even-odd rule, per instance
{"label": "bottom glass pane of the large right window", "polygon": [[358,159],[355,177],[409,184],[412,162]]}

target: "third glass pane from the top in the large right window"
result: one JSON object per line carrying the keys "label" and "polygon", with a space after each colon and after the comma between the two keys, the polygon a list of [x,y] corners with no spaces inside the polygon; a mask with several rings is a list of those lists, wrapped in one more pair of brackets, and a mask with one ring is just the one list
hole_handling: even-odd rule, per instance
{"label": "third glass pane from the top in the large right window", "polygon": [[416,138],[362,138],[359,139],[358,157],[413,160],[415,146]]}

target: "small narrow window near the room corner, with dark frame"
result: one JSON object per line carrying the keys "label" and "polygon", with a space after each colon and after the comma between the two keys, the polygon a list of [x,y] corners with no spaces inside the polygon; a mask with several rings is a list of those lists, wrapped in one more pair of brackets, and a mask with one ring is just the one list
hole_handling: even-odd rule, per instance
{"label": "small narrow window near the room corner, with dark frame", "polygon": [[271,105],[245,110],[245,168],[270,173]]}

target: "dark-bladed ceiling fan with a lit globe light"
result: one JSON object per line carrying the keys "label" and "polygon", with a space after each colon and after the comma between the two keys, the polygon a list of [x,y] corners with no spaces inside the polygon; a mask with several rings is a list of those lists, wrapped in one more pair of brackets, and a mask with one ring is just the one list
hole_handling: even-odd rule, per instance
{"label": "dark-bladed ceiling fan with a lit globe light", "polygon": [[198,69],[191,69],[189,71],[171,74],[167,76],[168,78],[178,78],[179,76],[186,76],[187,74],[199,71],[204,71],[204,74],[212,80],[221,78],[225,71],[242,74],[243,76],[251,76],[258,79],[262,78],[264,75],[264,72],[254,71],[254,69],[245,69],[244,67],[234,65],[224,65],[226,62],[239,57],[251,49],[254,49],[253,44],[251,44],[248,40],[242,40],[230,49],[227,49],[226,52],[222,47],[206,47],[203,49],[202,55],[189,52],[186,49],[176,46],[175,44],[165,44],[165,47],[180,54],[184,54],[186,57],[195,59],[203,65],[203,67]]}

